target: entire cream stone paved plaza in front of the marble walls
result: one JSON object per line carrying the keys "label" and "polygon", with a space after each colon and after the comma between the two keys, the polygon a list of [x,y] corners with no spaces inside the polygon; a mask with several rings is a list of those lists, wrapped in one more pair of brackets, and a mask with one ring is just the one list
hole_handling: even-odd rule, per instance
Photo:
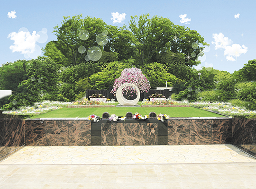
{"label": "entire cream stone paved plaza in front of the marble walls", "polygon": [[233,145],[26,146],[0,162],[0,189],[256,189]]}

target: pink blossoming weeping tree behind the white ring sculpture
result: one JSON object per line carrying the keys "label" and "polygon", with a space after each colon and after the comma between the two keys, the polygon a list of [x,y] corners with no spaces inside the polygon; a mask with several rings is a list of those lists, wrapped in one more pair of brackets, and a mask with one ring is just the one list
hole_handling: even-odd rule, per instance
{"label": "pink blossoming weeping tree behind the white ring sculpture", "polygon": [[[136,85],[140,92],[148,92],[150,89],[149,81],[142,74],[142,71],[137,68],[124,69],[121,73],[121,76],[115,80],[113,89],[110,93],[116,95],[119,86],[123,85],[124,83],[131,83]],[[133,92],[137,94],[136,89],[131,86],[125,87],[124,90],[126,90],[126,94],[132,94]]]}

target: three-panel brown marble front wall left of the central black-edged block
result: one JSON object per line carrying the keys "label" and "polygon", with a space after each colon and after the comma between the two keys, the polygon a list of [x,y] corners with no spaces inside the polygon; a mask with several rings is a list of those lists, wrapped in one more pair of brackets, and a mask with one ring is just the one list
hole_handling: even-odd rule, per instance
{"label": "three-panel brown marble front wall left of the central black-edged block", "polygon": [[26,120],[28,146],[89,146],[89,120]]}

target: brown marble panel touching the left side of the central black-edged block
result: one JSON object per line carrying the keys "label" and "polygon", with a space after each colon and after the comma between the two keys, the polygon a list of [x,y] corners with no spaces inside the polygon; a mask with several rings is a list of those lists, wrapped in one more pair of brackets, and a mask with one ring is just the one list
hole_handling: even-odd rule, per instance
{"label": "brown marble panel touching the left side of the central black-edged block", "polygon": [[68,138],[69,146],[90,146],[91,121],[68,120]]}

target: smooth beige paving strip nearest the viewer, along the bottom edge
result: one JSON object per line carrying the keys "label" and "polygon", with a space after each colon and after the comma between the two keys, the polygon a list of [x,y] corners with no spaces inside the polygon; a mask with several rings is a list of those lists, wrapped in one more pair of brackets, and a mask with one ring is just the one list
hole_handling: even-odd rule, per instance
{"label": "smooth beige paving strip nearest the viewer, along the bottom edge", "polygon": [[0,189],[256,189],[256,163],[0,165]]}

